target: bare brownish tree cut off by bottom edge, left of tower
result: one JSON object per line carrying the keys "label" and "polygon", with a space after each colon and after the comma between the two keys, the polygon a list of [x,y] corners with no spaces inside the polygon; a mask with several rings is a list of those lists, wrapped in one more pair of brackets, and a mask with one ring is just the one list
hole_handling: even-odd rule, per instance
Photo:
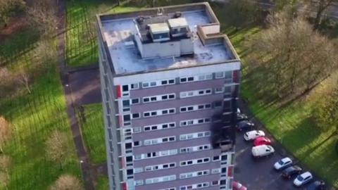
{"label": "bare brownish tree cut off by bottom edge, left of tower", "polygon": [[51,186],[50,190],[82,190],[80,180],[72,175],[61,175]]}

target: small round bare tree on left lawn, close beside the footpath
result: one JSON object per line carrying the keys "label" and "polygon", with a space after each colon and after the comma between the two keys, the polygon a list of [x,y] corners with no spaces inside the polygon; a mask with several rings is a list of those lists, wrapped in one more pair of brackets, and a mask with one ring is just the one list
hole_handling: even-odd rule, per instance
{"label": "small round bare tree on left lawn, close beside the footpath", "polygon": [[55,131],[46,140],[46,154],[54,162],[60,163],[61,168],[67,163],[68,156],[73,152],[70,139],[65,132]]}

